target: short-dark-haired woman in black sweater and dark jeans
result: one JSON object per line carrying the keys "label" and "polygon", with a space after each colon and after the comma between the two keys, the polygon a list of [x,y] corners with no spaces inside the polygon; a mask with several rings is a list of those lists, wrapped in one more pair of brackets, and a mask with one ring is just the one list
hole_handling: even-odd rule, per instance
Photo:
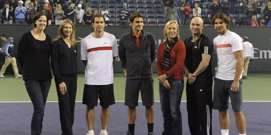
{"label": "short-dark-haired woman in black sweater and dark jeans", "polygon": [[34,107],[31,135],[39,135],[42,132],[44,108],[52,79],[49,62],[52,41],[44,33],[44,29],[48,27],[45,13],[36,13],[33,27],[35,29],[24,33],[19,41],[17,60],[23,69],[26,91]]}

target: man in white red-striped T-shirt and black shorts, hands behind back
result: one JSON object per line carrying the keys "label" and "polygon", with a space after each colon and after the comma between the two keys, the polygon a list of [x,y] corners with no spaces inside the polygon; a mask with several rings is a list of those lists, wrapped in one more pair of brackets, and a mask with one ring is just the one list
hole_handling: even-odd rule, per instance
{"label": "man in white red-striped T-shirt and black shorts, hands behind back", "polygon": [[94,135],[94,107],[101,105],[101,133],[108,135],[109,106],[115,104],[113,63],[118,56],[117,40],[104,32],[105,19],[101,14],[92,18],[94,32],[82,40],[81,60],[86,65],[83,104],[87,105],[88,134]]}

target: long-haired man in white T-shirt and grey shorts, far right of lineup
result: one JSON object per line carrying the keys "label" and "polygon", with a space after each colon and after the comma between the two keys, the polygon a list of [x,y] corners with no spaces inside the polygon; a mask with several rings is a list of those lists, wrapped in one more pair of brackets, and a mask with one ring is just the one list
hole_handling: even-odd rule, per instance
{"label": "long-haired man in white T-shirt and grey shorts, far right of lineup", "polygon": [[242,70],[244,65],[242,38],[229,31],[230,20],[224,13],[212,19],[219,35],[213,39],[217,55],[214,79],[213,109],[219,110],[222,135],[229,135],[229,97],[239,135],[246,135],[246,122],[242,111]]}

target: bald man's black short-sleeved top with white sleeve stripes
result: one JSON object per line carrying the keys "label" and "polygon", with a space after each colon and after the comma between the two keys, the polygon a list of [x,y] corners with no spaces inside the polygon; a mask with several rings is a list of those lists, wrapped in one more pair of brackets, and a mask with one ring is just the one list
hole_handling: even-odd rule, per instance
{"label": "bald man's black short-sleeved top with white sleeve stripes", "polygon": [[[186,49],[185,66],[188,68],[189,73],[194,73],[201,63],[202,54],[212,55],[213,43],[204,34],[201,34],[201,36],[195,42],[192,42],[191,40],[192,36],[184,41]],[[197,81],[212,80],[213,75],[211,59],[206,69],[197,76]]]}

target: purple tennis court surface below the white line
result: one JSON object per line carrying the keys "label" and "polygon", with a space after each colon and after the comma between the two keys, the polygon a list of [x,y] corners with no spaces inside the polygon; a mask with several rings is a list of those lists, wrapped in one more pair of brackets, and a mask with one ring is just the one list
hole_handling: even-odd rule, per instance
{"label": "purple tennis court surface below the white line", "polygon": [[[271,102],[243,102],[244,115],[247,124],[247,133],[250,135],[270,135],[271,133]],[[84,135],[87,133],[85,119],[86,106],[81,102],[76,102],[75,119],[73,124],[74,135]],[[154,134],[161,135],[163,131],[163,117],[160,111],[160,102],[154,104]],[[30,123],[33,113],[31,102],[1,102],[0,103],[0,135],[29,135]],[[95,134],[101,130],[100,122],[101,107],[95,107]],[[183,135],[189,135],[186,102],[181,103]],[[110,120],[107,131],[110,135],[125,135],[128,129],[127,107],[123,102],[117,102],[110,107]],[[220,125],[218,120],[218,110],[213,110],[213,135],[219,135]],[[235,126],[235,117],[229,106],[230,127],[229,134],[238,134]],[[137,107],[136,135],[148,134],[145,120],[145,107],[139,103]],[[47,102],[43,120],[42,135],[60,135],[61,126],[59,120],[59,108],[57,102]]]}

